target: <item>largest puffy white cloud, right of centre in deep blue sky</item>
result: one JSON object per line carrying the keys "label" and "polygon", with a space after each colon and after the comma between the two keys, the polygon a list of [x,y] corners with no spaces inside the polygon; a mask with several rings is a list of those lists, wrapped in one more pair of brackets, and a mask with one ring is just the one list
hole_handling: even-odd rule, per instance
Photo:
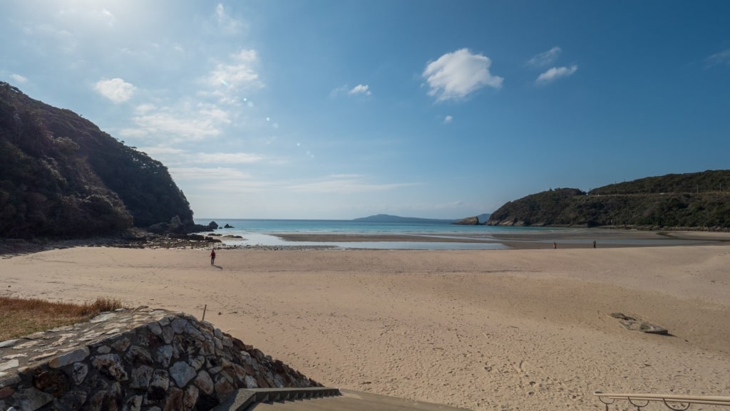
{"label": "largest puffy white cloud, right of centre in deep blue sky", "polygon": [[491,63],[487,56],[466,48],[442,55],[423,70],[429,96],[436,96],[436,101],[458,100],[485,86],[501,88],[504,79],[489,72]]}

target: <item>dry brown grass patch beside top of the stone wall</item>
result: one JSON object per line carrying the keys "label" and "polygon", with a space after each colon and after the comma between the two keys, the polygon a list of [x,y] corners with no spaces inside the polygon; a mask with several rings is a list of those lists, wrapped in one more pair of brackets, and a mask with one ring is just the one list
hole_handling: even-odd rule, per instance
{"label": "dry brown grass patch beside top of the stone wall", "polygon": [[122,307],[120,300],[108,297],[83,304],[0,297],[0,341],[80,323]]}

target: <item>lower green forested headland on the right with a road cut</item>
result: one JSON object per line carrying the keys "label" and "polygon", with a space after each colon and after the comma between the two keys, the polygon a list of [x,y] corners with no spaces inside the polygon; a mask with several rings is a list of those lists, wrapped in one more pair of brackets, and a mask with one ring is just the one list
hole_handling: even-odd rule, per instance
{"label": "lower green forested headland on the right with a road cut", "polygon": [[543,191],[499,207],[487,225],[728,229],[730,170]]}

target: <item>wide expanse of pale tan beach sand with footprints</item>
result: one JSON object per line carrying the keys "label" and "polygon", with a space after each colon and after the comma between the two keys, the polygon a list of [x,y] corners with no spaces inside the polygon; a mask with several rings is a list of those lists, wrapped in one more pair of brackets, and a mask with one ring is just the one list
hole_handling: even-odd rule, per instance
{"label": "wide expanse of pale tan beach sand with footprints", "polygon": [[[197,318],[207,304],[206,320],[325,385],[472,410],[604,410],[596,390],[730,395],[725,245],[220,250],[222,269],[208,253],[15,256],[0,260],[0,290]],[[611,312],[674,337],[628,331]]]}

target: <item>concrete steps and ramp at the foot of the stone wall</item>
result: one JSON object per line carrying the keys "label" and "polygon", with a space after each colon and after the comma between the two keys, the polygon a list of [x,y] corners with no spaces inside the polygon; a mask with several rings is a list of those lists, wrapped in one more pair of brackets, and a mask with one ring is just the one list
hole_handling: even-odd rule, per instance
{"label": "concrete steps and ramp at the foot of the stone wall", "polygon": [[[337,388],[267,388],[238,390],[211,411],[464,411],[464,408],[418,402]],[[468,410],[467,410],[468,411]]]}

